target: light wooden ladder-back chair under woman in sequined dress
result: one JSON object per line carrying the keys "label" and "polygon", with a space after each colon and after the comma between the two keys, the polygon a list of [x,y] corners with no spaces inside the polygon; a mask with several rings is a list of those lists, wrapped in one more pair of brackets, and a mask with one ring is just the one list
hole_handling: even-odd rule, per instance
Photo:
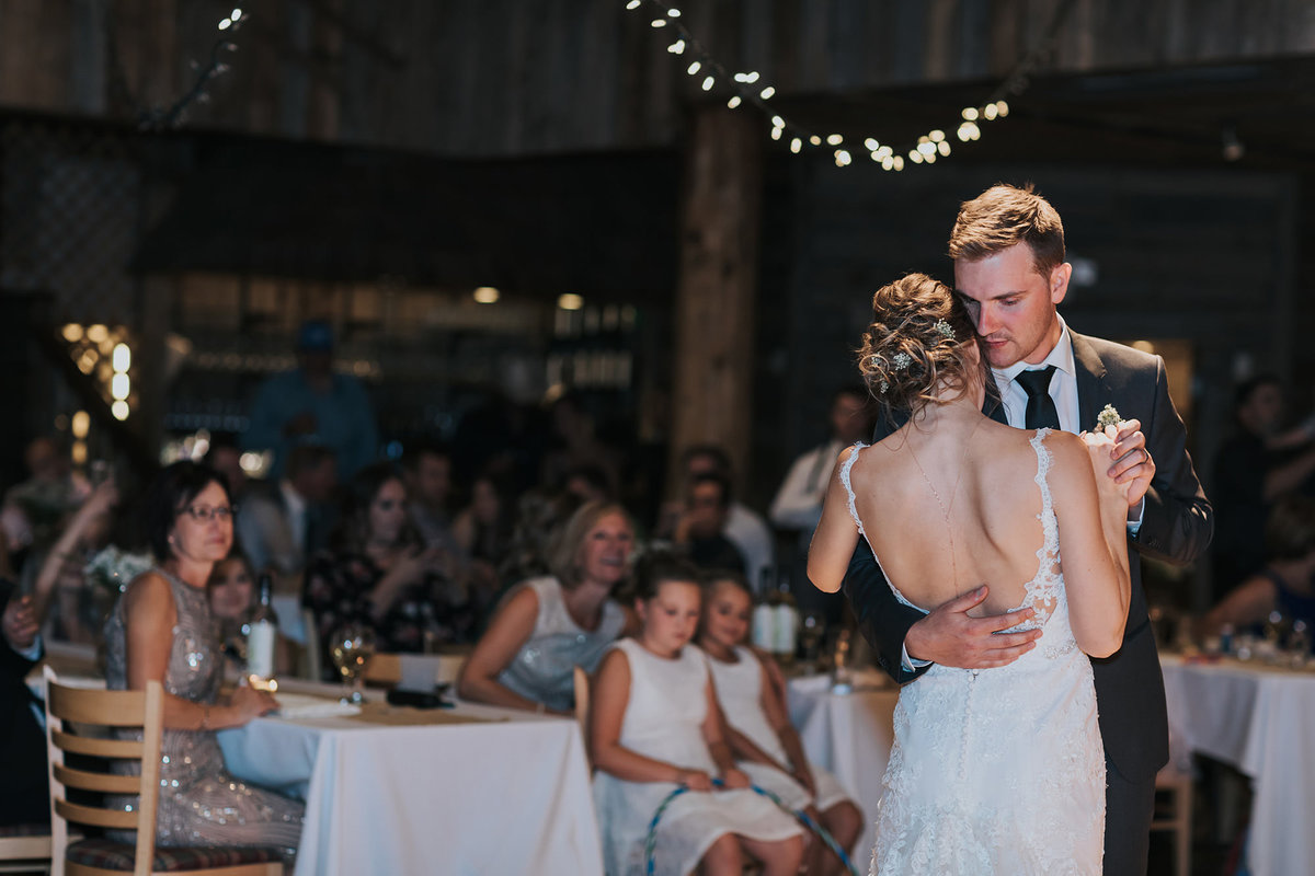
{"label": "light wooden ladder-back chair under woman in sequined dress", "polygon": [[[50,750],[50,834],[54,876],[151,876],[187,872],[197,876],[281,876],[274,848],[155,847],[155,808],[159,800],[160,737],[164,693],[159,682],[145,691],[105,691],[64,687],[46,670],[46,739]],[[75,733],[74,730],[79,730]],[[113,732],[141,728],[142,738],[120,739]],[[75,755],[78,767],[64,762]],[[108,770],[109,762],[137,763],[138,775]],[[104,771],[93,771],[104,764]],[[85,768],[84,768],[85,766]],[[84,799],[97,795],[135,796],[134,810],[96,802],[72,802],[68,791]],[[137,831],[135,842],[101,838],[70,843],[70,822],[103,830]]]}

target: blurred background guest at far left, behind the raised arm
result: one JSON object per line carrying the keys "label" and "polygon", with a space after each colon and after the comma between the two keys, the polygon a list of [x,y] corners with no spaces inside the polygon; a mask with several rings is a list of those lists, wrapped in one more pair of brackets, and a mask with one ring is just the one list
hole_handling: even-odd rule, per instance
{"label": "blurred background guest at far left, behind the raised arm", "polygon": [[30,559],[17,567],[22,583],[30,584],[60,528],[91,493],[91,483],[71,469],[68,453],[53,437],[33,439],[24,462],[32,477],[4,494],[0,525],[9,550],[25,552],[24,561]]}

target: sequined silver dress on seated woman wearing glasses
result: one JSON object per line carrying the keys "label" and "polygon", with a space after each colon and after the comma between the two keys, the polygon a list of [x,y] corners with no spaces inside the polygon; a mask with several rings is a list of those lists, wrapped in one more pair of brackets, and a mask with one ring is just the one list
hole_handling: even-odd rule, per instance
{"label": "sequined silver dress on seated woman wearing glasses", "polygon": [[[224,678],[224,654],[205,590],[191,587],[163,569],[154,571],[170,582],[178,605],[164,692],[193,703],[214,703]],[[125,690],[122,599],[105,623],[105,650],[108,686]],[[166,728],[160,755],[158,844],[268,846],[296,852],[302,805],[230,776],[213,730]]]}

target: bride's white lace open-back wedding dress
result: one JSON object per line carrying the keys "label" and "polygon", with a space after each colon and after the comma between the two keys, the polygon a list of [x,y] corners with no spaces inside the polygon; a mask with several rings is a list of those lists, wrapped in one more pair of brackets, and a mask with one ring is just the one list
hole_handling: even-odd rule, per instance
{"label": "bride's white lace open-back wedding dress", "polygon": [[[1031,441],[1044,545],[1019,605],[1035,608],[1036,620],[1015,628],[1039,625],[1044,632],[1035,649],[1009,666],[932,666],[899,691],[873,875],[1101,873],[1105,755],[1091,663],[1069,626],[1045,478],[1047,433],[1041,429]],[[861,447],[840,478],[849,514],[867,537],[849,485]],[[890,588],[913,604],[894,582]]]}

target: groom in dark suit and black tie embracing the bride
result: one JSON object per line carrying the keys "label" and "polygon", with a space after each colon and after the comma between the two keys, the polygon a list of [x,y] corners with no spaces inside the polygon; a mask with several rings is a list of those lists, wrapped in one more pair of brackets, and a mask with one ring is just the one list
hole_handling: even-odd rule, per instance
{"label": "groom in dark suit and black tie embracing the bride", "polygon": [[[1030,186],[995,185],[968,201],[951,231],[949,256],[955,292],[977,326],[999,390],[1001,398],[986,403],[993,419],[1018,428],[1094,431],[1102,408],[1114,405],[1124,420],[1109,475],[1134,482],[1132,596],[1122,649],[1091,663],[1109,783],[1105,872],[1145,873],[1155,776],[1169,759],[1169,730],[1136,553],[1191,562],[1210,542],[1212,511],[1169,399],[1164,361],[1078,335],[1056,313],[1072,265],[1064,261],[1064,226],[1045,198]],[[877,439],[897,426],[880,426]],[[918,678],[931,663],[1003,666],[1035,647],[1041,636],[1040,630],[997,634],[1028,617],[1026,612],[969,617],[968,609],[986,598],[985,586],[928,615],[901,605],[867,545],[855,552],[844,588],[860,629],[898,682]]]}

